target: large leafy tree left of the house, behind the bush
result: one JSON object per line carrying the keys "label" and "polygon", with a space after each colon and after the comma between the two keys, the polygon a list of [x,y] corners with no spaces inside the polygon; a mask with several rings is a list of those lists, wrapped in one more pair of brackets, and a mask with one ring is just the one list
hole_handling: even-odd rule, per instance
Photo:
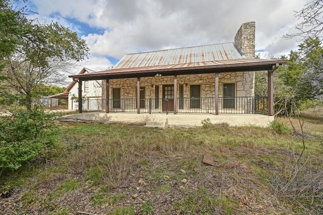
{"label": "large leafy tree left of the house, behind the bush", "polygon": [[0,59],[4,65],[0,76],[5,82],[0,84],[0,97],[10,98],[18,93],[30,108],[35,87],[39,83],[65,81],[63,73],[69,72],[76,62],[84,60],[89,55],[89,48],[85,40],[78,38],[77,33],[69,28],[55,22],[41,24],[28,19],[23,12],[25,10],[14,10],[14,0],[0,1],[5,11],[18,14],[16,24],[22,29],[3,33],[14,40],[3,42],[11,49],[4,52],[6,55]]}

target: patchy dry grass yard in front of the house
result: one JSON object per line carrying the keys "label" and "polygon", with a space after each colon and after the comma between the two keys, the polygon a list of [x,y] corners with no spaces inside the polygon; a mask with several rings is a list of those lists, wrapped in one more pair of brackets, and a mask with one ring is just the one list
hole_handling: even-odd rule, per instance
{"label": "patchy dry grass yard in front of the house", "polygon": [[[299,160],[302,141],[268,128],[62,123],[62,148],[2,177],[1,190],[11,196],[0,199],[0,208],[5,214],[321,214],[323,118],[311,116]],[[204,154],[214,166],[202,163]]]}

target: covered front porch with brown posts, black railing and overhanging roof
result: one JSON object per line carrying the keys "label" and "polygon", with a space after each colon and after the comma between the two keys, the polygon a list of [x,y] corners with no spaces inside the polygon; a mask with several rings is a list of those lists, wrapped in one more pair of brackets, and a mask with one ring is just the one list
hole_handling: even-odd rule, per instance
{"label": "covered front porch with brown posts, black railing and overhanging roof", "polygon": [[[268,116],[273,116],[273,74],[280,65],[286,62],[287,60],[227,60],[221,62],[208,62],[208,65],[179,64],[171,66],[112,69],[90,74],[73,75],[70,77],[79,82],[79,113],[82,113],[83,111],[104,111],[105,113],[130,112],[137,114],[172,113],[177,115],[178,113],[205,113],[212,115],[249,114],[250,116],[250,114],[266,114]],[[219,82],[219,77],[223,77],[223,74],[254,73],[250,71],[267,71],[267,96],[257,97],[253,96],[253,93],[250,93],[251,96],[247,94],[242,96],[237,96],[237,94],[227,96],[224,92],[221,92],[221,90],[224,91],[224,84],[226,84]],[[196,88],[197,85],[181,82],[181,77],[190,75],[208,75],[208,77],[210,77],[208,80],[212,82],[212,85],[209,85],[208,88],[212,88],[212,92],[205,94],[206,96],[200,92],[196,95],[192,94],[193,88]],[[160,76],[171,77],[173,83],[170,84],[169,81],[167,84],[160,82],[161,84],[158,85],[152,82],[153,80],[160,78]],[[111,85],[115,85],[114,81],[116,79],[132,80],[132,85],[126,87],[127,93],[131,94],[132,97],[115,96],[115,89],[112,88]],[[180,80],[179,82],[178,79]],[[248,78],[243,79],[244,84],[250,85],[250,83],[246,83],[247,79]],[[85,80],[104,80],[104,98],[83,100],[82,82]],[[252,80],[250,79],[249,81]],[[146,84],[145,86],[147,86],[147,88],[155,89],[155,95],[150,97],[145,96],[145,94],[142,93],[142,91],[145,91],[142,83]],[[222,88],[219,87],[219,84],[222,85]],[[228,87],[230,84],[231,82],[227,84]],[[190,93],[185,95],[185,93],[183,93],[183,87],[189,88],[188,92]],[[240,86],[235,86],[235,90],[237,90],[238,87]],[[194,89],[194,91],[200,91],[200,88],[198,90]],[[111,89],[113,92],[110,92]],[[116,92],[117,91],[118,88],[116,88]],[[110,96],[112,96],[112,98]]]}

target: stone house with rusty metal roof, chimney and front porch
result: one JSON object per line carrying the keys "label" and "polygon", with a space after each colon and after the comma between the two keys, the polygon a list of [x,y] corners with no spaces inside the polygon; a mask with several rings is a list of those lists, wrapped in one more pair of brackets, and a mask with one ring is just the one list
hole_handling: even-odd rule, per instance
{"label": "stone house with rusty metal roof, chimney and front porch", "polygon": [[[111,70],[70,77],[78,78],[81,88],[83,81],[102,80],[105,105],[97,111],[106,113],[272,116],[273,72],[287,61],[254,59],[254,52],[255,22],[248,22],[234,42],[132,53]],[[254,96],[255,71],[268,73],[266,97]]]}

